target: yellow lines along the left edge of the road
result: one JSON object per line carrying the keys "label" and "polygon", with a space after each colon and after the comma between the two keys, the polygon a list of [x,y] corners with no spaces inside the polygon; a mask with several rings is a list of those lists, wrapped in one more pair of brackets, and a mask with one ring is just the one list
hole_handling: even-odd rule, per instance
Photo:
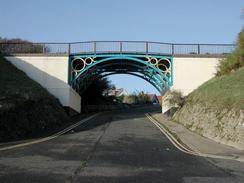
{"label": "yellow lines along the left edge of the road", "polygon": [[20,144],[16,144],[16,145],[10,145],[10,146],[6,146],[6,147],[2,147],[2,148],[0,148],[0,151],[15,149],[15,148],[18,148],[18,147],[24,147],[24,146],[33,145],[33,144],[45,142],[45,141],[48,141],[48,140],[52,140],[54,138],[59,137],[60,135],[63,135],[65,133],[67,133],[68,131],[74,129],[75,127],[85,123],[86,121],[88,121],[88,120],[90,120],[90,119],[92,119],[92,118],[94,118],[94,117],[96,117],[96,116],[98,116],[100,114],[101,113],[97,113],[97,114],[94,114],[94,115],[92,115],[92,116],[90,116],[88,118],[85,118],[85,119],[83,119],[83,120],[81,120],[81,121],[79,121],[79,122],[77,122],[77,123],[65,128],[64,130],[62,130],[60,132],[51,135],[51,136],[48,136],[48,137],[45,137],[45,138],[41,138],[41,139],[37,139],[37,140],[33,140],[33,141],[30,141],[30,142],[25,142],[25,143],[20,143]]}

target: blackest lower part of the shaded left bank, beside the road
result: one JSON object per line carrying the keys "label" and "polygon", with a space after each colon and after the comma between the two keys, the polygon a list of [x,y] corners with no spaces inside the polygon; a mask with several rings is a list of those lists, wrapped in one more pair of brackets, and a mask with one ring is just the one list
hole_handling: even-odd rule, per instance
{"label": "blackest lower part of the shaded left bank, beside the road", "polygon": [[40,137],[66,126],[68,117],[54,97],[0,99],[0,142]]}

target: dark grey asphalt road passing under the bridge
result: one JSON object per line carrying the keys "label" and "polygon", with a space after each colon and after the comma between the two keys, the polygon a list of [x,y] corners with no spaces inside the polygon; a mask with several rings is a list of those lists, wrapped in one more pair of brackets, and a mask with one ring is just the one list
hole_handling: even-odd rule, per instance
{"label": "dark grey asphalt road passing under the bridge", "polygon": [[0,182],[244,182],[242,163],[177,150],[145,117],[155,110],[107,112],[56,139],[0,151]]}

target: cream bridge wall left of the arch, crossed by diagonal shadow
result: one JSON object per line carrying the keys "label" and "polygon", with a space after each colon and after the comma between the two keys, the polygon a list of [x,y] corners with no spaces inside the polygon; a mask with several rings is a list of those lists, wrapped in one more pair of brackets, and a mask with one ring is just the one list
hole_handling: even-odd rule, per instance
{"label": "cream bridge wall left of the arch, crossed by diagonal shadow", "polygon": [[10,56],[6,59],[57,97],[63,106],[80,112],[81,97],[68,85],[67,56]]}

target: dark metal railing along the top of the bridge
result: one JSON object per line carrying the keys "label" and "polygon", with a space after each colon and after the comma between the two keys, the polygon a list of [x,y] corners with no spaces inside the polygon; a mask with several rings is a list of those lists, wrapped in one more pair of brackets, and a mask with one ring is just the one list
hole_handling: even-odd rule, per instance
{"label": "dark metal railing along the top of the bridge", "polygon": [[160,55],[225,55],[234,44],[175,44],[144,41],[88,41],[75,43],[0,42],[0,52],[12,54],[142,53]]}

